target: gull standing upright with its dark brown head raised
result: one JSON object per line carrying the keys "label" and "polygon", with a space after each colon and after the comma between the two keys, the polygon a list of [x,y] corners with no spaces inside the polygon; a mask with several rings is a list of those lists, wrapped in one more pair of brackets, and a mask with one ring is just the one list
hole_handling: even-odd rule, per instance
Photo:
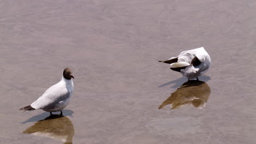
{"label": "gull standing upright with its dark brown head raised", "polygon": [[62,110],[68,105],[74,91],[72,78],[74,79],[71,69],[65,68],[60,82],[48,88],[31,105],[22,107],[20,110],[25,112],[43,109],[50,112],[50,115],[53,115],[51,112],[60,111],[60,115],[62,115]]}

